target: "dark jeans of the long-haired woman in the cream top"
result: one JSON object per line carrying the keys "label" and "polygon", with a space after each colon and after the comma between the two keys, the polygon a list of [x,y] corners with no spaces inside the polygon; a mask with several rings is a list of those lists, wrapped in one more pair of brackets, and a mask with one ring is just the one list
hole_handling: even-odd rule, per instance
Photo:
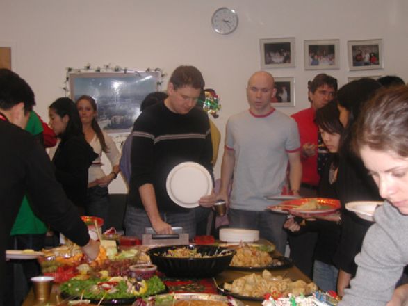
{"label": "dark jeans of the long-haired woman in the cream top", "polygon": [[[86,193],[85,214],[87,216],[102,218],[106,223],[109,202],[108,187],[94,186],[88,188],[88,192]],[[102,227],[102,230],[106,230],[106,225]]]}

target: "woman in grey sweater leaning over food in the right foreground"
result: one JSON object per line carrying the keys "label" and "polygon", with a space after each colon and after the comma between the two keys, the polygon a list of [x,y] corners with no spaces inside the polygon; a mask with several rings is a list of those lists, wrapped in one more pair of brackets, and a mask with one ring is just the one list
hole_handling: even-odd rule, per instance
{"label": "woman in grey sweater leaning over food in the right foreground", "polygon": [[408,264],[408,88],[381,90],[362,113],[354,150],[386,201],[375,211],[339,306],[407,305],[408,288],[394,288]]}

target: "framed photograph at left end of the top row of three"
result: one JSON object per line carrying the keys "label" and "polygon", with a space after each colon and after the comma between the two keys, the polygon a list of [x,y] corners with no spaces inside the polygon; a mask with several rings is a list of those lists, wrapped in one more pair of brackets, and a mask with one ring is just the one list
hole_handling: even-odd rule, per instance
{"label": "framed photograph at left end of the top row of three", "polygon": [[259,45],[262,69],[295,67],[295,38],[265,38]]}

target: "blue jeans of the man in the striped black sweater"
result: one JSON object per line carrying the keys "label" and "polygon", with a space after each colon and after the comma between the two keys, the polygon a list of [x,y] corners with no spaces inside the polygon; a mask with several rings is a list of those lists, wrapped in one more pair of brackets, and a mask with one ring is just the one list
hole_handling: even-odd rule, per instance
{"label": "blue jeans of the man in the striped black sweater", "polygon": [[[194,209],[186,213],[181,212],[163,212],[160,211],[161,219],[172,227],[183,227],[183,232],[188,234],[188,239],[195,237],[195,216]],[[145,209],[140,209],[127,205],[126,214],[124,216],[124,228],[127,236],[136,236],[142,239],[146,227],[152,227],[149,217]]]}

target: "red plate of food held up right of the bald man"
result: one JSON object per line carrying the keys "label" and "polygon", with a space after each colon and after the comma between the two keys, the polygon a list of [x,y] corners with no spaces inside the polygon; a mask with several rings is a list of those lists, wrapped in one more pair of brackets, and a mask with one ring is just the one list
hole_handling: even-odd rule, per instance
{"label": "red plate of food held up right of the bald man", "polygon": [[[318,209],[303,209],[300,207],[302,204],[307,204],[310,201],[317,201],[320,204]],[[280,214],[290,214],[296,212],[300,214],[329,214],[337,209],[341,208],[339,200],[327,199],[327,198],[302,198],[290,201],[281,202],[279,205],[273,205],[268,207],[271,211],[275,211]]]}

